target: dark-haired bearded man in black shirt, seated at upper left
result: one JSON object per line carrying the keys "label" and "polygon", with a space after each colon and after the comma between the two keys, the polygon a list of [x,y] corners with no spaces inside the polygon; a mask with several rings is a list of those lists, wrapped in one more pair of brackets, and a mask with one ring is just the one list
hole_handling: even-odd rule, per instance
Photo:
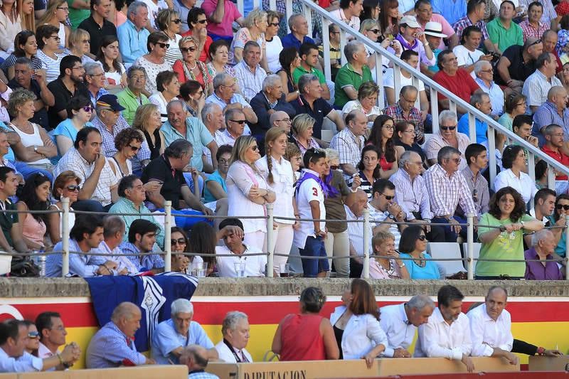
{"label": "dark-haired bearded man in black shirt, seated at upper left", "polygon": [[52,127],[68,118],[66,107],[73,95],[83,95],[90,99],[89,91],[83,84],[85,70],[81,58],[67,55],[61,60],[59,68],[59,78],[48,84],[48,90],[55,98],[55,105],[49,107],[48,111],[49,124]]}

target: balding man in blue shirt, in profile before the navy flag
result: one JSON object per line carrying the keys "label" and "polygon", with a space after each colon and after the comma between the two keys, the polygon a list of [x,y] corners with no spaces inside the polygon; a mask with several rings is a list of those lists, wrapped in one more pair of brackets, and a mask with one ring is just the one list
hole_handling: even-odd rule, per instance
{"label": "balding man in blue shirt, in profile before the navy flag", "polygon": [[153,365],[134,347],[134,333],[140,328],[142,313],[136,304],[124,301],[112,311],[107,322],[91,338],[85,358],[87,368],[110,368],[120,365]]}

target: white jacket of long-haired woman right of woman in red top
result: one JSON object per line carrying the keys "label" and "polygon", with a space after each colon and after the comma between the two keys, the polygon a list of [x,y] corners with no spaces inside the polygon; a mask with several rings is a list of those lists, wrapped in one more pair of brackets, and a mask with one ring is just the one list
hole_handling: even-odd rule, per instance
{"label": "white jacket of long-haired woman right of woman in red top", "polygon": [[[330,315],[330,323],[336,321],[344,314],[346,306],[338,306]],[[379,321],[371,314],[352,314],[344,329],[341,346],[344,359],[360,359],[378,345],[387,346],[387,336],[381,329]]]}

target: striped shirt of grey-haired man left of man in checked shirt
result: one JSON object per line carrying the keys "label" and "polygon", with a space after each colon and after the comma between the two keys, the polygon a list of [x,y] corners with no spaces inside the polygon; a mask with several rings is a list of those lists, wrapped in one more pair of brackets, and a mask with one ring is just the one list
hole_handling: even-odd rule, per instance
{"label": "striped shirt of grey-haired man left of man in checked shirt", "polygon": [[395,202],[401,205],[407,220],[415,220],[413,212],[420,212],[423,220],[432,218],[429,194],[422,176],[411,181],[407,171],[398,169],[389,181],[395,184]]}

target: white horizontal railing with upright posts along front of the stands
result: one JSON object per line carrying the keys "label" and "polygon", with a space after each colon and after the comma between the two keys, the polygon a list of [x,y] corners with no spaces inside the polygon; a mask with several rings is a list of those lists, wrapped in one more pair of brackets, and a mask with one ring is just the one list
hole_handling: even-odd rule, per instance
{"label": "white horizontal railing with upright posts along front of the stands", "polygon": [[[45,210],[45,211],[39,211],[39,210],[26,210],[26,211],[20,211],[20,210],[6,210],[6,212],[9,213],[55,213],[58,212],[61,214],[61,220],[63,222],[63,230],[62,230],[62,248],[60,251],[51,251],[51,252],[28,252],[28,253],[7,253],[7,252],[1,252],[0,251],[0,255],[13,255],[13,256],[40,256],[40,255],[54,255],[54,254],[60,254],[62,255],[62,269],[61,269],[61,275],[62,277],[66,277],[69,274],[69,257],[70,254],[83,254],[83,255],[107,255],[107,253],[104,252],[73,252],[69,250],[69,215],[70,213],[78,213],[78,214],[93,214],[93,215],[107,215],[109,213],[100,213],[100,212],[84,212],[84,211],[73,211],[70,210],[69,207],[69,199],[68,198],[62,198],[62,203],[63,203],[63,210],[60,211],[53,211],[53,210]],[[112,215],[155,215],[154,213],[112,213]],[[152,255],[152,254],[157,254],[157,255],[161,255],[164,256],[164,270],[166,272],[171,271],[171,256],[172,256],[172,250],[171,250],[171,244],[169,243],[170,239],[171,239],[171,225],[173,225],[172,223],[172,218],[174,217],[174,215],[172,215],[171,213],[171,202],[170,201],[166,201],[165,206],[164,206],[164,213],[160,213],[160,215],[164,215],[164,252],[140,252],[139,254],[137,254],[137,256],[143,256],[143,255]],[[186,217],[186,218],[203,218],[203,215],[176,215],[175,217]],[[225,218],[226,216],[211,216],[212,218]],[[240,219],[244,219],[244,218],[256,218],[256,219],[263,219],[266,220],[267,222],[267,246],[275,246],[274,242],[275,242],[275,233],[272,229],[273,226],[273,221],[274,220],[295,220],[297,221],[297,219],[295,218],[282,218],[282,217],[275,217],[275,215],[273,214],[273,204],[267,204],[267,214],[266,215],[262,215],[262,216],[235,216],[237,218]],[[569,215],[565,216],[565,220],[567,222],[567,225],[569,225]],[[307,220],[307,219],[302,219],[302,221],[319,221],[319,220]],[[326,222],[331,222],[331,221],[343,221],[343,222],[349,222],[349,223],[361,223],[363,226],[363,230],[362,230],[362,235],[363,235],[363,255],[361,257],[363,257],[363,270],[362,270],[362,277],[368,279],[369,278],[369,265],[370,265],[370,259],[371,258],[375,258],[375,257],[382,257],[382,258],[389,258],[389,257],[383,257],[380,255],[375,255],[369,254],[369,250],[370,250],[370,245],[371,245],[371,235],[370,235],[370,230],[371,230],[371,223],[376,223],[376,224],[383,224],[383,223],[390,223],[392,224],[390,221],[379,221],[379,220],[371,220],[370,219],[370,214],[369,214],[369,210],[368,208],[364,208],[363,210],[363,217],[359,220],[320,220],[320,221],[326,221]],[[396,223],[396,224],[405,224],[405,225],[417,225],[416,223],[409,223],[409,222],[401,222],[401,223]],[[437,223],[427,223],[425,225],[443,225],[443,224],[437,224]],[[466,269],[467,269],[467,277],[469,280],[474,279],[474,261],[489,261],[489,262],[526,262],[526,260],[524,259],[513,259],[513,260],[499,260],[499,259],[493,259],[493,258],[475,258],[474,257],[474,215],[469,214],[467,215],[467,223],[465,224],[459,224],[463,227],[467,228],[467,251],[464,252],[464,258],[430,258],[428,260],[432,260],[432,261],[466,261],[467,265],[466,265]],[[478,226],[484,226],[487,228],[499,228],[493,225],[478,225]],[[565,228],[564,232],[565,233],[565,251],[569,251],[569,228],[568,227],[558,227],[558,226],[553,226],[550,228]],[[233,256],[233,255],[208,255],[208,254],[203,254],[203,252],[184,252],[184,253],[179,253],[176,252],[176,255],[188,255],[188,256],[195,256],[195,255],[201,255],[201,257],[228,257],[228,256]],[[116,255],[116,256],[132,256],[132,254],[112,254],[112,255]],[[274,262],[274,257],[275,256],[289,256],[289,254],[283,254],[283,253],[275,253],[274,252],[274,248],[272,251],[267,251],[267,252],[261,252],[261,253],[257,253],[257,254],[252,254],[252,255],[266,255],[267,256],[267,277],[272,277],[273,276],[273,262]],[[331,260],[338,260],[338,259],[353,259],[354,257],[348,256],[348,257],[330,257],[330,258],[324,258],[324,259],[331,259]],[[302,259],[322,259],[321,257],[302,257]],[[413,257],[410,258],[400,258],[401,260],[414,260]],[[565,262],[565,275],[566,275],[566,279],[569,279],[569,265],[567,264],[568,260],[565,257],[565,259],[563,260],[563,262]],[[444,278],[442,278],[444,279]]]}

